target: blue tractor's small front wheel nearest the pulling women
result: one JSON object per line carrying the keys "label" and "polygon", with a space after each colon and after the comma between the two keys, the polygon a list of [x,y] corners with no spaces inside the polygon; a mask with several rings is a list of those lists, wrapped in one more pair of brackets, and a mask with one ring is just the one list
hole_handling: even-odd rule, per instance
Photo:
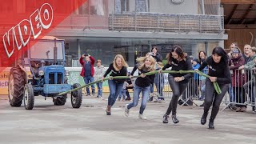
{"label": "blue tractor's small front wheel nearest the pulling women", "polygon": [[[79,83],[73,85],[74,89],[80,87]],[[82,105],[82,90],[75,90],[71,92],[71,105],[73,108],[79,108]]]}

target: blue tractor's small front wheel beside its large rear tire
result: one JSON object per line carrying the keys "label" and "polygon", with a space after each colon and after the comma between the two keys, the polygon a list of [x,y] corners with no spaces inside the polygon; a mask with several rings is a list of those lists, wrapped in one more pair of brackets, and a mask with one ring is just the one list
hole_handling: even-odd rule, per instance
{"label": "blue tractor's small front wheel beside its large rear tire", "polygon": [[32,110],[34,107],[34,90],[31,84],[24,87],[24,107],[26,110]]}

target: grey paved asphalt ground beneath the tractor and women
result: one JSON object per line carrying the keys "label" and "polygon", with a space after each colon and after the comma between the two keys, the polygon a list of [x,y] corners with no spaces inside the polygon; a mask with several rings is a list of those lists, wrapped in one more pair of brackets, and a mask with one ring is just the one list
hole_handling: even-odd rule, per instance
{"label": "grey paved asphalt ground beneath the tractor and women", "polygon": [[[70,97],[65,106],[54,106],[52,99],[36,97],[33,110],[11,107],[0,97],[0,143],[256,143],[256,114],[251,107],[245,113],[226,109],[219,112],[215,130],[200,124],[202,108],[178,106],[176,125],[162,123],[170,99],[148,102],[147,120],[138,119],[139,106],[124,116],[127,102],[116,102],[112,115],[106,116],[106,98],[83,97],[80,109],[73,109]],[[200,102],[198,102],[200,103]]]}

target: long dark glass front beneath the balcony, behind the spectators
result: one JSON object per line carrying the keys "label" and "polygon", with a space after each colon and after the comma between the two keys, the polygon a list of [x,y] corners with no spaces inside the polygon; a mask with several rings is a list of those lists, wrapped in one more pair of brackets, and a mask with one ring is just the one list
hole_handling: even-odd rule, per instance
{"label": "long dark glass front beneath the balcony, behind the spectators", "polygon": [[[170,53],[172,46],[182,46],[188,54],[198,57],[199,50],[205,50],[205,41],[174,40],[155,38],[83,38],[79,39],[80,54],[78,54],[78,43],[66,38],[69,48],[66,48],[66,66],[80,66],[78,59],[82,54],[90,54],[102,60],[103,66],[109,66],[116,54],[122,54],[130,67],[136,63],[136,58],[145,56],[150,52],[152,46],[157,46],[158,53],[162,54],[163,62],[166,62],[166,54]],[[210,45],[208,47],[212,47]],[[211,49],[208,49],[211,50]],[[96,65],[95,65],[96,66]]]}

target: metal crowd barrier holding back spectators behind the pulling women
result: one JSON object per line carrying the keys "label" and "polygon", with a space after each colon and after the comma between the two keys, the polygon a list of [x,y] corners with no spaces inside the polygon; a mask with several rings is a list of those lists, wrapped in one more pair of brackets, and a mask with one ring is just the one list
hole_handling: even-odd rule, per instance
{"label": "metal crowd barrier holding back spectators behind the pulling women", "polygon": [[[203,70],[207,74],[208,70]],[[230,70],[232,84],[227,91],[225,97],[222,100],[222,104],[225,104],[225,108],[229,106],[256,106],[256,89],[255,89],[255,76],[254,70]],[[193,100],[204,100],[204,94],[206,89],[206,78],[194,74],[196,77],[192,77],[189,80],[188,86],[185,92],[182,94],[180,100],[182,106],[192,105]],[[168,82],[168,74],[156,74],[155,91],[160,98],[171,98],[172,90]],[[194,103],[196,106],[197,104]],[[223,110],[224,110],[223,109]]]}

